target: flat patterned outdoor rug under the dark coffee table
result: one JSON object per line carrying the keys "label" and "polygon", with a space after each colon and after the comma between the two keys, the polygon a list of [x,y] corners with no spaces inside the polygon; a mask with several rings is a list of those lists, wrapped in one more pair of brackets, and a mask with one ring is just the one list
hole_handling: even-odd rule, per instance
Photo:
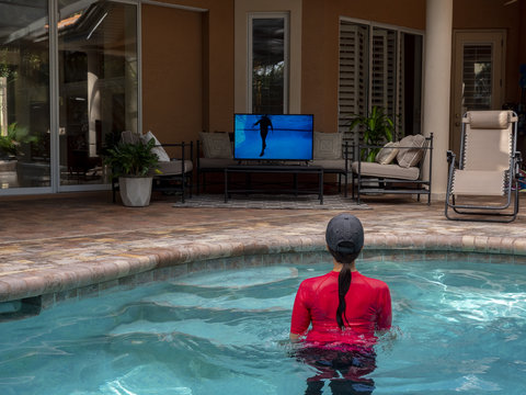
{"label": "flat patterned outdoor rug under the dark coffee table", "polygon": [[291,194],[233,194],[225,203],[222,194],[198,194],[186,199],[184,203],[178,202],[174,207],[206,207],[206,208],[297,208],[297,210],[369,210],[366,204],[356,204],[351,198],[343,195],[323,195],[320,204],[318,195]]}

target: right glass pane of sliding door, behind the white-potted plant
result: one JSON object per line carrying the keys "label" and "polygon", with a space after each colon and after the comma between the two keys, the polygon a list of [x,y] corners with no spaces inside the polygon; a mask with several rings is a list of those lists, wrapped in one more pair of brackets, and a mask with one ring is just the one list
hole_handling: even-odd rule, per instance
{"label": "right glass pane of sliding door, behind the white-potted plant", "polygon": [[60,185],[107,182],[103,150],[137,131],[137,7],[60,1],[58,63]]}

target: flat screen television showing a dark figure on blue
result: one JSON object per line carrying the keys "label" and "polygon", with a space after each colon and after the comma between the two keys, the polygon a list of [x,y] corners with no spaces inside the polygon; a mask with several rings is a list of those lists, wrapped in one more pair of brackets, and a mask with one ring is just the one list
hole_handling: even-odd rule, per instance
{"label": "flat screen television showing a dark figure on blue", "polygon": [[312,114],[235,114],[233,158],[312,160]]}

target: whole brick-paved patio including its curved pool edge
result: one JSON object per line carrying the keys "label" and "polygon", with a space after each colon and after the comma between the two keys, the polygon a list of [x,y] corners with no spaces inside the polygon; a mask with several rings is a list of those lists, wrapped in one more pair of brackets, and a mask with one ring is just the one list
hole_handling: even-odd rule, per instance
{"label": "whole brick-paved patio including its curved pool edge", "polygon": [[[341,212],[175,208],[173,203],[157,196],[148,207],[124,207],[111,202],[111,192],[0,199],[0,302],[54,295],[47,302],[53,304],[66,293],[77,297],[129,282],[130,275],[149,281],[164,275],[162,269],[173,275],[181,263],[191,270],[192,262],[231,256],[318,251],[323,259],[327,222]],[[477,251],[526,262],[524,215],[511,224],[451,222],[442,202],[370,198],[365,203],[370,210],[353,214],[366,229],[366,252]]]}

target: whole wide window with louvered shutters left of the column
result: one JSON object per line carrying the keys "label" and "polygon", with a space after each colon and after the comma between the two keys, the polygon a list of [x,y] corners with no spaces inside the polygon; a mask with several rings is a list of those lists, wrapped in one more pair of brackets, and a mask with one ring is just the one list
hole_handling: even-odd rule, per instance
{"label": "whole wide window with louvered shutters left of the column", "polygon": [[421,34],[340,21],[339,131],[357,145],[363,131],[348,120],[380,106],[395,119],[397,137],[421,133]]}

